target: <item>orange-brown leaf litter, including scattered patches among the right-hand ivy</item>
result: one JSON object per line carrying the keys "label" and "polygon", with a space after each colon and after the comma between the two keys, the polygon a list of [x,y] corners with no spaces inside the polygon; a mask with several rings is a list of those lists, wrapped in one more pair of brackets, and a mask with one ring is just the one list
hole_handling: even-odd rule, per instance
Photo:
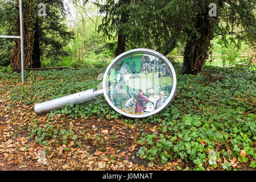
{"label": "orange-brown leaf litter, including scattered patches among the right-hand ivy", "polygon": [[[19,83],[13,84],[10,81],[5,82],[3,86],[21,88]],[[110,114],[105,118],[95,115],[73,118],[55,113],[36,115],[33,104],[24,104],[19,100],[12,101],[13,96],[7,89],[0,92],[0,170],[191,170],[196,168],[188,159],[168,159],[163,164],[137,156],[139,148],[145,144],[145,142],[139,143],[142,134],[155,134],[157,139],[160,139],[161,123],[135,125],[119,119],[122,117],[112,118]],[[184,97],[179,94],[177,96]],[[203,110],[202,107],[200,109]],[[191,125],[191,120],[189,121],[188,125]],[[199,124],[197,122],[195,126]],[[164,133],[169,135],[171,131],[167,130]],[[176,138],[174,142],[180,140]],[[205,139],[200,139],[199,142],[202,146],[208,144]],[[228,140],[228,143],[230,142],[234,141]],[[223,148],[223,143],[216,142],[214,150],[220,151]],[[225,150],[231,155],[229,146]],[[223,170],[229,167],[238,170],[253,169],[248,167],[253,159],[247,160],[248,155],[245,150],[240,150],[239,153],[241,159],[238,156],[218,158],[216,168],[207,162],[202,164],[207,170]]]}

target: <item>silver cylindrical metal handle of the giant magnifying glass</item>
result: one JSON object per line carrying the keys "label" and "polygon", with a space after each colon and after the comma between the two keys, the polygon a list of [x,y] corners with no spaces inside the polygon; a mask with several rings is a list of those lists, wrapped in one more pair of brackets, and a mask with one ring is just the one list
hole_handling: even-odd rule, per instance
{"label": "silver cylindrical metal handle of the giant magnifying glass", "polygon": [[94,89],[85,90],[79,93],[71,94],[69,96],[56,98],[51,101],[42,102],[35,105],[36,114],[45,114],[49,113],[51,110],[61,109],[67,104],[83,104],[88,101],[97,100],[97,96],[103,94],[103,90]]}

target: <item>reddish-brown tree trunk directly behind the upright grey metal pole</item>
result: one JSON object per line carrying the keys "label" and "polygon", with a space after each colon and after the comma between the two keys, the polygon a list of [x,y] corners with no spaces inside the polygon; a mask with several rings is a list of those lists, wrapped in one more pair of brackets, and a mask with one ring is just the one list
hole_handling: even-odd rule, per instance
{"label": "reddish-brown tree trunk directly behind the upright grey metal pole", "polygon": [[[27,3],[27,4],[24,5],[24,3]],[[28,8],[27,6],[30,6],[30,8]],[[16,9],[19,10],[19,7],[16,6]],[[35,32],[34,9],[35,9],[35,2],[33,3],[32,0],[23,2],[22,10],[23,10],[24,69],[30,68],[30,65],[32,63],[32,51],[33,51],[34,32]],[[16,16],[19,17],[18,14]],[[17,18],[17,22],[15,26],[15,34],[20,35],[19,18]],[[11,69],[13,71],[16,71],[16,72],[21,71],[20,56],[21,56],[20,55],[20,39],[15,39],[13,55],[11,56]]]}

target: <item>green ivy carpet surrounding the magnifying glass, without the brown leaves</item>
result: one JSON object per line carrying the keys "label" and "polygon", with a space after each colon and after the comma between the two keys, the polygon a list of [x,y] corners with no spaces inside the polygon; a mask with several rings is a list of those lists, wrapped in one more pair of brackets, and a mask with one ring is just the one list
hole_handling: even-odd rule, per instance
{"label": "green ivy carpet surrounding the magnifying glass, without the brown leaves", "polygon": [[[250,162],[255,167],[255,71],[243,67],[205,66],[202,73],[193,76],[181,75],[181,66],[174,65],[177,89],[172,104],[163,113],[139,121],[142,124],[150,122],[159,130],[142,133],[137,156],[163,164],[171,159],[189,159],[197,170],[204,170],[206,163],[216,168],[220,158],[223,169],[230,169],[228,159],[232,158]],[[25,72],[24,86],[17,86],[18,73],[0,72],[4,86],[0,93],[9,89],[13,102],[34,105],[82,90],[97,89],[102,81],[98,75],[104,72],[105,68]],[[54,110],[49,117],[55,114],[75,119],[93,115],[134,122],[116,113],[103,96],[97,101]],[[74,133],[72,131],[72,136]],[[62,134],[59,131],[58,135]],[[246,156],[241,155],[241,151],[245,151]]]}

